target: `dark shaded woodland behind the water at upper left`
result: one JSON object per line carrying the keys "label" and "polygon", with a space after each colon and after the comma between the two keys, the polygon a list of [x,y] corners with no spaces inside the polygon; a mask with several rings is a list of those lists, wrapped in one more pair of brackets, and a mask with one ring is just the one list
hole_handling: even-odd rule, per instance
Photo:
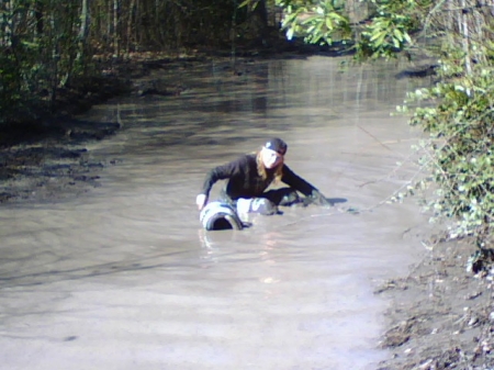
{"label": "dark shaded woodland behind the water at upper left", "polygon": [[29,106],[52,110],[57,91],[97,72],[96,60],[137,51],[228,45],[232,29],[249,20],[239,3],[0,1],[0,123],[25,120]]}

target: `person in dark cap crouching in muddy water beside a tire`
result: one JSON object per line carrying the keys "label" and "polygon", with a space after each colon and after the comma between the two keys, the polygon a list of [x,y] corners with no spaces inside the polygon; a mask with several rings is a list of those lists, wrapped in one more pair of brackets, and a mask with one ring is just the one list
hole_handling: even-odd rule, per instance
{"label": "person in dark cap crouching in muddy water beside a tire", "polygon": [[[222,200],[235,205],[238,212],[274,214],[278,205],[316,203],[332,205],[314,186],[299,177],[284,164],[287,144],[278,137],[271,138],[255,154],[247,154],[229,164],[207,172],[195,203],[201,211],[207,203],[210,191],[217,180],[227,179],[222,190]],[[284,182],[289,187],[269,190],[271,183]],[[299,193],[305,195],[302,200]]]}

